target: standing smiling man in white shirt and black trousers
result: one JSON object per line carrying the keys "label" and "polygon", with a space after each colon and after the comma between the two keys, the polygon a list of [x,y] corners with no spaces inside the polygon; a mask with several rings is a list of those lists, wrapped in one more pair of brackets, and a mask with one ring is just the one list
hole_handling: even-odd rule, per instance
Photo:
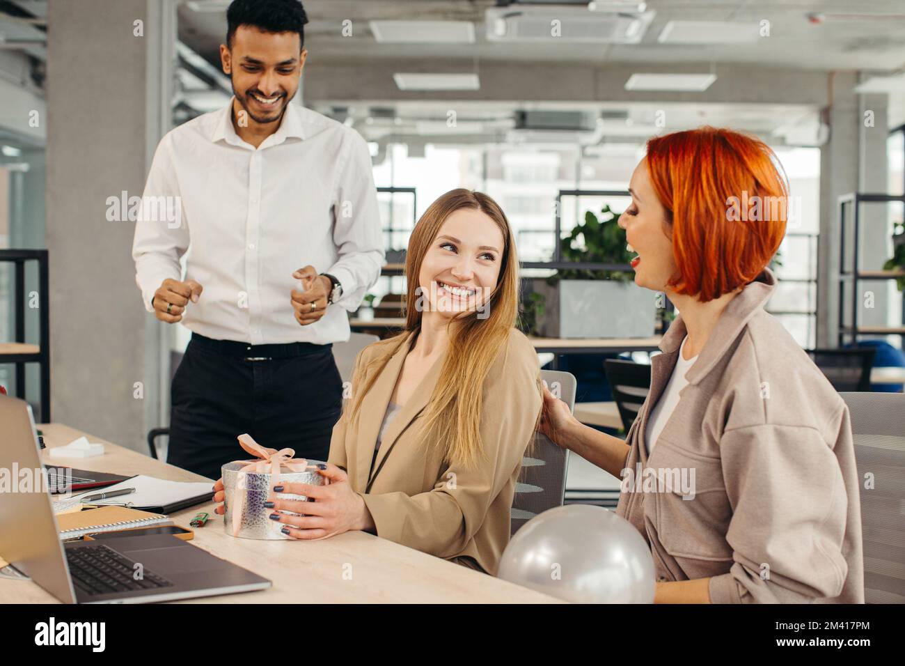
{"label": "standing smiling man in white shirt and black trousers", "polygon": [[226,16],[234,97],[160,141],[132,248],[148,311],[193,332],[167,461],[210,478],[247,458],[243,432],[327,459],[342,400],[330,345],[384,262],[366,142],[290,103],[308,54],[300,2],[235,0]]}

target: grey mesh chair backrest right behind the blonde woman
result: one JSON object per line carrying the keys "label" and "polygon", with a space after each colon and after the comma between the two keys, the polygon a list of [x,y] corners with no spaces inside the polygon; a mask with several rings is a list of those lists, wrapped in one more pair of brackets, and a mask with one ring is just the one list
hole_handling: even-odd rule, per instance
{"label": "grey mesh chair backrest right behind the blonde woman", "polygon": [[[553,395],[575,410],[575,376],[556,370],[540,371],[540,379],[547,382]],[[534,433],[534,441],[521,460],[519,481],[512,497],[511,530],[519,527],[548,508],[561,507],[566,495],[568,451],[554,444],[547,435]]]}

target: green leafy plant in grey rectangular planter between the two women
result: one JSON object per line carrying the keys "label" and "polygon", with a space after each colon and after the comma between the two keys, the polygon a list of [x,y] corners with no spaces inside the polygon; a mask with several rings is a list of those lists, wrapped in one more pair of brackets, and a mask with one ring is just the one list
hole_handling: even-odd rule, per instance
{"label": "green leafy plant in grey rectangular planter between the two women", "polygon": [[[619,214],[604,206],[597,217],[585,213],[583,222],[562,239],[566,261],[628,265]],[[537,314],[538,333],[551,338],[643,338],[654,331],[656,294],[634,284],[628,270],[559,269],[534,282],[544,297]]]}

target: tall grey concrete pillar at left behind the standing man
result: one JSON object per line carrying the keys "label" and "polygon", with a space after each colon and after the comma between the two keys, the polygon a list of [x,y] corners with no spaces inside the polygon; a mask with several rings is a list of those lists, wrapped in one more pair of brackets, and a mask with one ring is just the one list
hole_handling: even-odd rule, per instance
{"label": "tall grey concrete pillar at left behind the standing man", "polygon": [[164,343],[135,285],[134,222],[107,212],[141,195],[168,129],[175,5],[50,0],[47,16],[53,420],[147,451]]}

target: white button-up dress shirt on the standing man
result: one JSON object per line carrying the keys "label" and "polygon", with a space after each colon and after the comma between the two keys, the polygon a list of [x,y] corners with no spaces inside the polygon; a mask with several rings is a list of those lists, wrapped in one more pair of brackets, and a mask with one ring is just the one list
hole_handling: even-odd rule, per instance
{"label": "white button-up dress shirt on the standing man", "polygon": [[[157,146],[143,201],[168,197],[176,206],[169,218],[139,207],[132,257],[145,306],[153,311],[166,278],[195,280],[204,291],[182,323],[196,333],[249,344],[346,341],[347,311],[384,264],[367,143],[290,103],[280,128],[255,149],[236,134],[232,109],[231,100]],[[302,326],[290,292],[301,291],[292,272],[306,265],[334,275],[342,297]]]}

